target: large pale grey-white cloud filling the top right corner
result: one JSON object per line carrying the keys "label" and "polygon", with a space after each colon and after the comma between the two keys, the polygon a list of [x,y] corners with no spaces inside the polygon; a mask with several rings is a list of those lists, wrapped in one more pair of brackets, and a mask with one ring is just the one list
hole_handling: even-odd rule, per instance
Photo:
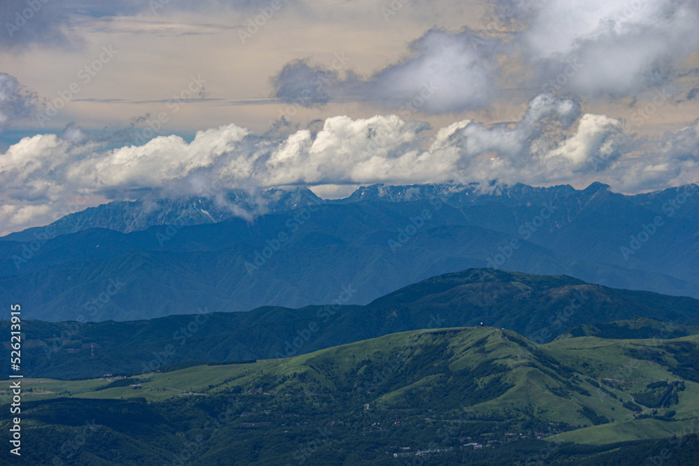
{"label": "large pale grey-white cloud filling the top right corner", "polygon": [[624,96],[675,78],[699,45],[695,0],[500,1],[524,24],[519,46],[540,84]]}

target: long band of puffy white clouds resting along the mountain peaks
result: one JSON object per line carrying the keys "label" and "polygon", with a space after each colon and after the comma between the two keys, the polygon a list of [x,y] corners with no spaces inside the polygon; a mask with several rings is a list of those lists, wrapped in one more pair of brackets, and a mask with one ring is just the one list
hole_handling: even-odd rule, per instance
{"label": "long band of puffy white clouds resting along the mountain peaks", "polygon": [[62,200],[78,195],[215,197],[226,189],[455,178],[535,185],[603,180],[641,191],[696,181],[699,166],[699,122],[663,138],[635,140],[623,120],[582,113],[576,101],[552,94],[532,99],[514,124],[466,119],[437,131],[397,115],[336,116],[287,136],[259,136],[229,124],[199,131],[189,143],[161,136],[111,150],[86,141],[73,126],[64,133],[24,138],[0,154],[0,230],[48,223]]}

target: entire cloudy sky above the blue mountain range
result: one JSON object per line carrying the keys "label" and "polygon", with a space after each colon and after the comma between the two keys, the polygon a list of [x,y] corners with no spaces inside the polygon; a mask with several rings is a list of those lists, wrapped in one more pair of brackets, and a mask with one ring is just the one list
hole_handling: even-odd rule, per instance
{"label": "entire cloudy sky above the blue mountain range", "polygon": [[3,0],[0,234],[144,196],[699,182],[696,0]]}

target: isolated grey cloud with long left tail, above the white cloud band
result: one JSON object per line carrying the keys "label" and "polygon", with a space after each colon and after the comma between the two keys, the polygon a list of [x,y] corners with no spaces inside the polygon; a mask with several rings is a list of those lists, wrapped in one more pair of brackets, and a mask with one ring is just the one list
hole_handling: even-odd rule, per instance
{"label": "isolated grey cloud with long left tail, above the white cloud band", "polygon": [[459,34],[431,29],[410,45],[408,57],[368,78],[341,73],[351,58],[337,56],[329,68],[292,61],[272,78],[273,96],[305,107],[370,101],[408,117],[473,110],[491,102],[498,50],[498,41],[468,29]]}

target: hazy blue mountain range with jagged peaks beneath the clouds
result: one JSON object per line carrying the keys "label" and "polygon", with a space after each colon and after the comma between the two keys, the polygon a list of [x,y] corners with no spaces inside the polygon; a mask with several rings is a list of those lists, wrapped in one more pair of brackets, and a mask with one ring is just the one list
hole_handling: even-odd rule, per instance
{"label": "hazy blue mountain range with jagged peaks beneath the clouds", "polygon": [[[273,213],[206,224],[196,224],[201,215],[178,220],[183,201],[155,203],[162,209],[148,215],[143,202],[111,203],[64,217],[64,227],[3,238],[0,291],[24,303],[30,319],[47,321],[297,308],[340,297],[363,305],[427,277],[482,267],[698,297],[696,189],[624,196],[603,184],[486,194],[372,186],[324,203],[305,189],[273,190],[265,201]],[[73,221],[69,231],[79,231],[62,234]]]}

